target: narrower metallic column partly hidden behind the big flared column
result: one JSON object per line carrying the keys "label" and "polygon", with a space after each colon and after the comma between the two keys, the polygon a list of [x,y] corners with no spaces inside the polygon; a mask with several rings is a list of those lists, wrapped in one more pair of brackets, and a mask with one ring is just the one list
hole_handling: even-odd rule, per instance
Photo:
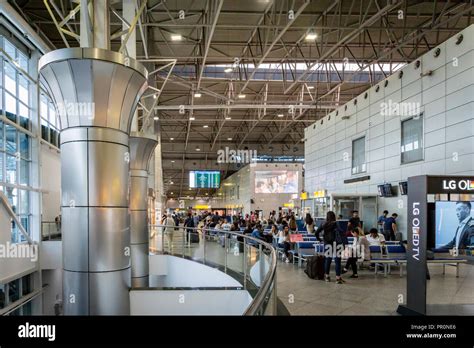
{"label": "narrower metallic column partly hidden behind the big flared column", "polygon": [[130,244],[132,287],[148,287],[148,165],[158,142],[133,132],[130,136]]}

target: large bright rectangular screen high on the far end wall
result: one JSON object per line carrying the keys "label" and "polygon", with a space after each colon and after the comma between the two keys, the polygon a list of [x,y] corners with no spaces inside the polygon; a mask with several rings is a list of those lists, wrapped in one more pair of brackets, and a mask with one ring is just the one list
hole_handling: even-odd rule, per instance
{"label": "large bright rectangular screen high on the far end wall", "polygon": [[298,172],[256,171],[255,193],[298,193]]}

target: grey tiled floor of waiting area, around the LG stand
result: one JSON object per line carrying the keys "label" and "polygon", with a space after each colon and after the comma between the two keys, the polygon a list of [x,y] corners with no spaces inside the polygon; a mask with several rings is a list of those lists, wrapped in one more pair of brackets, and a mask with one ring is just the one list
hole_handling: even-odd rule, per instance
{"label": "grey tiled floor of waiting area, around the LG stand", "polygon": [[[359,279],[345,277],[345,284],[313,280],[302,268],[278,263],[278,297],[292,315],[397,315],[399,299],[406,295],[406,276],[400,278],[397,270],[385,278],[382,274],[362,270]],[[428,303],[474,304],[474,266],[461,265],[460,277],[454,268],[430,265]],[[348,274],[351,274],[350,272]]]}

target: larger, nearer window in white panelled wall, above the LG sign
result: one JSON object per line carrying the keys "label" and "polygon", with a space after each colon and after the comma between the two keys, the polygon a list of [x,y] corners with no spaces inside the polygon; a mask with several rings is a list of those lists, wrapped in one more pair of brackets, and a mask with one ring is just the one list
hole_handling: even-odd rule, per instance
{"label": "larger, nearer window in white panelled wall, above the LG sign", "polygon": [[414,117],[402,122],[401,162],[423,160],[423,118]]}

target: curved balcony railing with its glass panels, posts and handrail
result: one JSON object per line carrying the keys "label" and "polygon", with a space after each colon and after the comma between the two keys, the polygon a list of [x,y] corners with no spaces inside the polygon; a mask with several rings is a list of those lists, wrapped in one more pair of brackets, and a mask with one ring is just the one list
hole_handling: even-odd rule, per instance
{"label": "curved balcony railing with its glass panels, posts and handrail", "polygon": [[244,315],[277,314],[277,254],[271,244],[239,232],[151,225],[150,249],[218,268],[239,281],[252,296]]}

